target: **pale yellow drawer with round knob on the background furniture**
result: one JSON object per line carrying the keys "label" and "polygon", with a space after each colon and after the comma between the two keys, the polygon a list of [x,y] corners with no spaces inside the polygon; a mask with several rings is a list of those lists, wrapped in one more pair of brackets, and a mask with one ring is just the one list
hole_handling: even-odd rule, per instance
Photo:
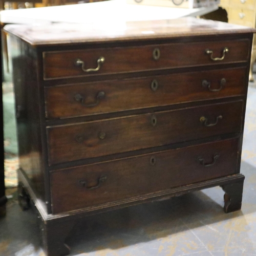
{"label": "pale yellow drawer with round knob on the background furniture", "polygon": [[[237,20],[240,24],[255,24],[255,11],[243,8],[229,8],[228,20]],[[254,27],[254,26],[253,26]]]}

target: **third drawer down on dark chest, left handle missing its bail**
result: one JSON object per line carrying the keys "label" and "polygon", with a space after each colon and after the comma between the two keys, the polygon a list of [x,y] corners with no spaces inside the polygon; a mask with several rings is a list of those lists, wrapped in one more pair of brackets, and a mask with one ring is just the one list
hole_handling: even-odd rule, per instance
{"label": "third drawer down on dark chest, left handle missing its bail", "polygon": [[241,131],[243,101],[48,126],[49,164]]}

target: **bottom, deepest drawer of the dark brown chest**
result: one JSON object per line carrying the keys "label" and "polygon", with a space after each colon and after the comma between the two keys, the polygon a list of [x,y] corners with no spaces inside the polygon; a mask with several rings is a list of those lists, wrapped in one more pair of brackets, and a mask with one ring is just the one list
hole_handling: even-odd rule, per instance
{"label": "bottom, deepest drawer of the dark brown chest", "polygon": [[168,194],[170,188],[236,174],[238,142],[230,139],[54,171],[53,214],[151,198]]}

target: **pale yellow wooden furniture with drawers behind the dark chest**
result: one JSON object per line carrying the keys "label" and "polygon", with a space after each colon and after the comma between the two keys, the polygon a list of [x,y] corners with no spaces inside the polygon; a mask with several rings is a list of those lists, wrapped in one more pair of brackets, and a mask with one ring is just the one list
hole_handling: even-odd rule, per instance
{"label": "pale yellow wooden furniture with drawers behind the dark chest", "polygon": [[[221,0],[220,6],[227,11],[228,23],[256,27],[256,1],[255,0]],[[256,60],[256,40],[253,39],[251,53],[251,69],[249,80],[253,81],[253,65]]]}

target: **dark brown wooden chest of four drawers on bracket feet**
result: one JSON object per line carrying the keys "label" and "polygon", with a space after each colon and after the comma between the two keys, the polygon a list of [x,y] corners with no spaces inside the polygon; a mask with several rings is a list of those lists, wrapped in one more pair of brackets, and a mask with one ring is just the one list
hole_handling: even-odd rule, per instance
{"label": "dark brown wooden chest of four drawers on bracket feet", "polygon": [[[96,25],[95,25],[96,26]],[[241,208],[253,30],[184,18],[10,25],[20,204],[48,255],[77,218],[222,186]]]}

